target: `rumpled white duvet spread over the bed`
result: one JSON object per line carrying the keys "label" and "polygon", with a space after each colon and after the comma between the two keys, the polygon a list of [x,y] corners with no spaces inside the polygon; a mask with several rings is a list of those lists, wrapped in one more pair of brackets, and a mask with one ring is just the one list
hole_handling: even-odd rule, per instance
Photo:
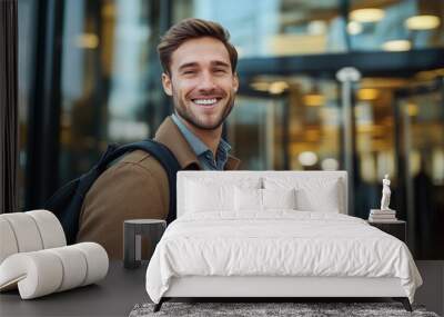
{"label": "rumpled white duvet spread over the bed", "polygon": [[159,303],[172,277],[396,277],[413,303],[422,278],[404,242],[332,212],[190,214],[173,221],[147,269]]}

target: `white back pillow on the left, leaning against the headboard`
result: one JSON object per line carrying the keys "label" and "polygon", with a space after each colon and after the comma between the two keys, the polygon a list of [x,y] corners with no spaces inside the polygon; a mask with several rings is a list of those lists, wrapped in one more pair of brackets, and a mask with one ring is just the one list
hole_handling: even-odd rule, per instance
{"label": "white back pillow on the left, leaning against the headboard", "polygon": [[186,185],[185,210],[188,212],[234,210],[234,186],[195,181],[189,181]]}

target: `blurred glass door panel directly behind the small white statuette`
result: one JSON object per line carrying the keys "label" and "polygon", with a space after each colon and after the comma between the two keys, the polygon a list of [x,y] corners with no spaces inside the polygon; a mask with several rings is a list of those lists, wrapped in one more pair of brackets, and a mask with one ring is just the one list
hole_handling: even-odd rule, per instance
{"label": "blurred glass door panel directly behind the small white statuette", "polygon": [[391,180],[390,208],[405,219],[403,181],[397,169],[395,92],[404,78],[363,77],[353,89],[353,195],[355,216],[367,219],[370,209],[381,208],[382,179]]}

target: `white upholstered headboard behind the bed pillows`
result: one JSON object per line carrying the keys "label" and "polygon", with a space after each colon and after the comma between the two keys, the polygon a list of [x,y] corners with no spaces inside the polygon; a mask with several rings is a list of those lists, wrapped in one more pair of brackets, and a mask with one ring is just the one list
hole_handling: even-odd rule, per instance
{"label": "white upholstered headboard behind the bed pillows", "polygon": [[[236,184],[242,181],[242,179],[258,179],[262,184],[264,177],[296,177],[301,179],[322,179],[322,180],[339,180],[341,201],[340,212],[347,215],[347,174],[346,171],[251,171],[251,170],[231,170],[231,171],[179,171],[178,172],[178,199],[176,199],[176,214],[178,218],[184,214],[185,206],[185,189],[186,184],[190,180],[198,180],[202,178],[209,178],[209,180],[214,180],[214,178],[229,179]],[[221,180],[222,180],[221,179]]]}

